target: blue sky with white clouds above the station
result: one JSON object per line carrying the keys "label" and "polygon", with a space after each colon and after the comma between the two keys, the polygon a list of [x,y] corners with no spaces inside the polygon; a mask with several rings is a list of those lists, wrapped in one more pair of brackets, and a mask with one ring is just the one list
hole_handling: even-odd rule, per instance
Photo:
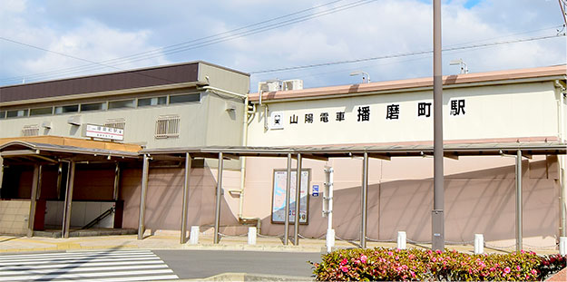
{"label": "blue sky with white clouds above the station", "polygon": [[[359,83],[360,77],[348,75],[356,70],[370,73],[375,82],[432,72],[429,53],[400,55],[432,48],[432,6],[425,0],[1,1],[0,37],[5,40],[0,40],[0,84],[4,85],[194,60],[253,73],[251,92],[259,81],[275,78],[303,79],[306,87],[316,87]],[[552,0],[442,2],[445,48],[553,35],[563,24],[559,5]],[[349,5],[353,7],[341,8]],[[294,16],[320,16],[263,32],[254,28],[278,21],[230,33],[309,8],[313,9]],[[249,34],[238,34],[242,32]],[[192,47],[187,43],[214,34],[221,37]],[[175,44],[184,48],[160,49]],[[110,61],[152,50],[152,55],[125,58],[120,64]],[[254,73],[372,57],[380,59]],[[560,64],[566,60],[565,37],[447,51],[445,74],[458,73],[458,67],[449,65],[458,58],[473,73]]]}

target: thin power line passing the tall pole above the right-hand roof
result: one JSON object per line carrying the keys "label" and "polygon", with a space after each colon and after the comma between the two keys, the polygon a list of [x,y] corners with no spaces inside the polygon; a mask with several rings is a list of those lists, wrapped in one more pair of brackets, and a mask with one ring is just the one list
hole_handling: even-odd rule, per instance
{"label": "thin power line passing the tall pole above the right-hand roof", "polygon": [[[495,46],[495,45],[502,45],[502,44],[516,44],[522,42],[530,42],[536,40],[543,40],[543,39],[550,39],[555,37],[565,36],[565,34],[554,34],[554,35],[545,35],[540,37],[531,37],[531,38],[524,38],[524,39],[517,39],[517,40],[509,40],[509,41],[501,41],[501,42],[494,42],[488,44],[474,44],[468,46],[461,46],[461,47],[451,47],[443,49],[444,52],[447,51],[455,51],[455,50],[464,50],[464,49],[474,49],[474,48],[481,48],[481,47],[488,47],[488,46]],[[255,72],[250,72],[250,74],[258,74],[258,73],[277,73],[283,71],[294,71],[300,69],[308,69],[308,68],[315,68],[327,65],[336,65],[336,64],[343,64],[343,63],[360,63],[360,62],[367,62],[367,61],[376,61],[376,60],[383,60],[383,59],[391,59],[391,58],[399,58],[399,57],[406,57],[406,56],[413,56],[425,53],[433,53],[432,50],[426,51],[417,51],[417,52],[410,52],[410,53],[396,53],[396,54],[388,54],[384,56],[378,57],[370,57],[370,58],[361,58],[356,60],[346,60],[346,61],[337,61],[337,62],[328,62],[328,63],[313,63],[313,64],[306,64],[306,65],[299,65],[299,66],[290,66],[290,67],[283,67],[277,69],[269,69],[269,70],[260,70]]]}

